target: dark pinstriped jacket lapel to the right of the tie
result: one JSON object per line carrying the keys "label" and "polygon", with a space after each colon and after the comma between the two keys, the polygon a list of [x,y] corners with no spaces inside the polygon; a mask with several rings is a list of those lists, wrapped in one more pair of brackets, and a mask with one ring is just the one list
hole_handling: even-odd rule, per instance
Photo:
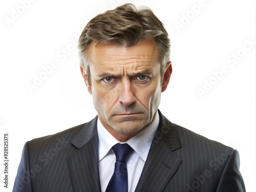
{"label": "dark pinstriped jacket lapel to the right of the tie", "polygon": [[182,159],[173,151],[181,143],[173,123],[158,111],[160,122],[135,191],[163,191]]}

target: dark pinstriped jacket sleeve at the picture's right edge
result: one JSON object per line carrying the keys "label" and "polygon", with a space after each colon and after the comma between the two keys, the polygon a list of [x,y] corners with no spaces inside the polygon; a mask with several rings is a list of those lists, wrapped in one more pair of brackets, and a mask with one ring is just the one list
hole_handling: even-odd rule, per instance
{"label": "dark pinstriped jacket sleeve at the picture's right edge", "polygon": [[221,175],[217,192],[244,192],[245,185],[239,170],[240,158],[237,150],[232,151]]}

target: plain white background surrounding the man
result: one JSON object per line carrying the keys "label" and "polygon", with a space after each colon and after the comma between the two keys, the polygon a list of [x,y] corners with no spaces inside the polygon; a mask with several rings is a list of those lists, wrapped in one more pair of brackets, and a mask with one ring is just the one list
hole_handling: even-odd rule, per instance
{"label": "plain white background surrounding the man", "polygon": [[[253,0],[31,0],[23,5],[24,1],[0,5],[0,141],[4,145],[4,133],[9,134],[10,160],[5,191],[12,189],[26,141],[96,115],[74,45],[96,14],[129,2],[152,8],[172,41],[173,75],[162,94],[161,112],[176,124],[236,148],[247,191],[255,191]],[[43,67],[55,61],[56,68],[44,76]],[[218,73],[217,79],[214,73],[221,69],[225,73]],[[29,90],[28,83],[34,84],[40,75],[44,80]],[[207,87],[206,81],[213,85]],[[206,89],[201,97],[199,88]],[[0,148],[0,159],[4,159],[4,146]],[[1,161],[0,170],[4,170]],[[1,171],[1,191],[3,178]]]}

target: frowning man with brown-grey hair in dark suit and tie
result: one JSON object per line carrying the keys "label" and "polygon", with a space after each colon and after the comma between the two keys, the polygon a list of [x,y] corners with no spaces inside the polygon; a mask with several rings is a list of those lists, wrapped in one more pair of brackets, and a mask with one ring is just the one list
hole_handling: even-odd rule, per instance
{"label": "frowning man with brown-grey hair in dark suit and tie", "polygon": [[97,15],[78,50],[98,115],[28,141],[14,191],[245,191],[236,150],[158,110],[172,65],[151,10],[126,4]]}

